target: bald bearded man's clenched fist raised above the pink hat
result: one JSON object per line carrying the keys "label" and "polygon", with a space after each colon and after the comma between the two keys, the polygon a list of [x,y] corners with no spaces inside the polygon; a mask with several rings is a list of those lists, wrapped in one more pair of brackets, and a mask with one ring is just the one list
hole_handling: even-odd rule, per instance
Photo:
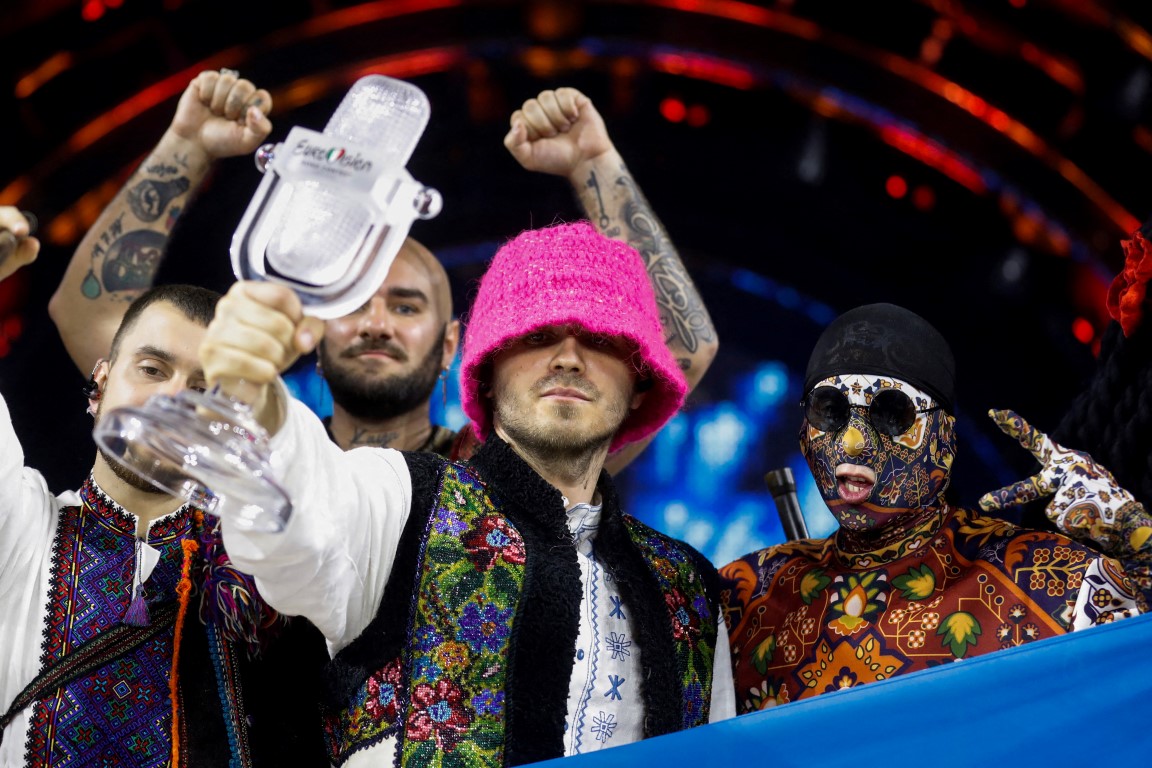
{"label": "bald bearded man's clenched fist raised above the pink hat", "polygon": [[544,91],[511,113],[505,147],[526,170],[570,176],[615,150],[591,99],[574,88]]}

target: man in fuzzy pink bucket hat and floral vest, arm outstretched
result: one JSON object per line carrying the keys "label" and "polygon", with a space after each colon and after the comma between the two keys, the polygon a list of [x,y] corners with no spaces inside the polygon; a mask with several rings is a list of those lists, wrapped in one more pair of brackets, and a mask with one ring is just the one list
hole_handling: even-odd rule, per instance
{"label": "man in fuzzy pink bucket hat and floral vest, arm outstretched", "polygon": [[499,250],[464,335],[467,464],[332,444],[276,380],[321,333],[290,291],[237,283],[200,355],[259,387],[295,512],[278,534],[226,520],[225,546],[327,637],[334,765],[520,765],[733,714],[715,570],[601,471],[687,389],[635,250],[588,222]]}

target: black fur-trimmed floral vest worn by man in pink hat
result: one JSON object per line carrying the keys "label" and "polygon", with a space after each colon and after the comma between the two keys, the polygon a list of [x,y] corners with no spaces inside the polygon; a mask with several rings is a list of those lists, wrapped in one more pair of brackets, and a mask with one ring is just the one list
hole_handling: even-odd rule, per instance
{"label": "black fur-trimmed floral vest worn by man in pink hat", "polygon": [[[561,756],[582,587],[560,493],[494,435],[468,464],[406,459],[412,510],[380,608],[329,667],[329,759],[389,736],[397,765]],[[706,723],[715,569],[622,515],[607,473],[598,489],[597,553],[643,651],[644,736]]]}

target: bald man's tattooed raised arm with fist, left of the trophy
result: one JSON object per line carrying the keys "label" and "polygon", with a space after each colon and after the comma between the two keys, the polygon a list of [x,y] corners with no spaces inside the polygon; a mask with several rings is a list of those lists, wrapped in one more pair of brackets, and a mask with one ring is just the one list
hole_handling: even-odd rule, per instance
{"label": "bald man's tattooed raised arm with fist, left of the trophy", "polygon": [[89,229],[48,303],[65,348],[88,374],[134,298],[156,280],[173,226],[213,162],[253,152],[272,132],[272,97],[233,70],[203,71],[172,124]]}

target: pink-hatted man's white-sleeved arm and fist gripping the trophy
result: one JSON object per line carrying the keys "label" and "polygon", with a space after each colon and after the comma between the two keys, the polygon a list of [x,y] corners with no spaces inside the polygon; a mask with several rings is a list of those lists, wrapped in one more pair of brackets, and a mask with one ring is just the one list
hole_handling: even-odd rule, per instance
{"label": "pink-hatted man's white-sleeved arm and fist gripping the trophy", "polygon": [[380,604],[411,481],[402,454],[341,450],[288,396],[278,374],[321,335],[324,322],[304,317],[287,287],[237,281],[217,304],[199,356],[209,383],[251,404],[274,435],[274,471],[294,505],[278,533],[247,530],[223,511],[225,547],[268,604],[308,617],[339,651]]}

